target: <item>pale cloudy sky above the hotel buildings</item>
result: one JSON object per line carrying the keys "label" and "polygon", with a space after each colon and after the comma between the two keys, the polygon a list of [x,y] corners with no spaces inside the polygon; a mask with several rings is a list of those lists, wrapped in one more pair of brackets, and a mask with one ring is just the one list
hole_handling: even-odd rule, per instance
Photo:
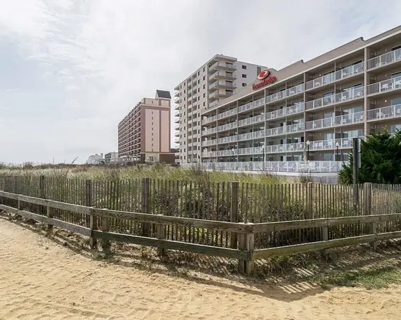
{"label": "pale cloudy sky above the hotel buildings", "polygon": [[215,54],[279,70],[401,24],[400,0],[0,0],[0,8],[4,163],[83,163],[117,151],[118,123],[142,97],[173,96]]}

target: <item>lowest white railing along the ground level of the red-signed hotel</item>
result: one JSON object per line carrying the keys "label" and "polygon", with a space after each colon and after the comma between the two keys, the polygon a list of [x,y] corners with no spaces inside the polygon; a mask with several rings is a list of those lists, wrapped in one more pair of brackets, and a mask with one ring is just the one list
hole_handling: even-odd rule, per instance
{"label": "lowest white railing along the ground level of the red-signed hotel", "polygon": [[291,173],[338,173],[342,161],[232,161],[202,162],[206,170],[248,170]]}

